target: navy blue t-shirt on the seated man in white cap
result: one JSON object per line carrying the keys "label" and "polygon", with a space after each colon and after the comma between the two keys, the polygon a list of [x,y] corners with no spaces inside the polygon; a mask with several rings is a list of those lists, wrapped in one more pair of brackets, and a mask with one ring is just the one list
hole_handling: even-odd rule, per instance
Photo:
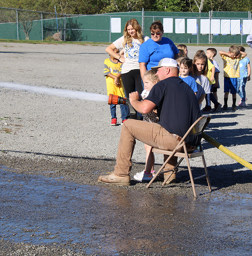
{"label": "navy blue t-shirt on the seated man in white cap", "polygon": [[[177,76],[168,77],[155,84],[146,100],[157,105],[158,124],[180,137],[201,116],[194,91]],[[185,141],[191,146],[197,146],[200,140],[199,135],[189,135]]]}

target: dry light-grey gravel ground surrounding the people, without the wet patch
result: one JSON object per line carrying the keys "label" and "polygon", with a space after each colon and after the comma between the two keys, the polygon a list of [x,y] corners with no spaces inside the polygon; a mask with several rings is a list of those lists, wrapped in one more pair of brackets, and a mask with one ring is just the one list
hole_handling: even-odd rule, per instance
{"label": "dry light-grey gravel ground surrounding the people, without the wet patch", "polygon": [[[188,56],[192,58],[198,49],[206,51],[206,48],[206,46],[189,46]],[[228,47],[216,47],[216,49],[228,51]],[[246,52],[252,59],[252,49],[246,47]],[[108,55],[105,53],[105,46],[0,43],[0,56],[0,83],[18,83],[106,95],[103,61]],[[220,57],[217,56],[216,60],[222,70]],[[223,104],[222,74],[223,72],[220,73],[221,88],[218,90],[221,104]],[[1,86],[0,91],[0,164],[2,166],[14,168],[15,170],[11,171],[23,175],[60,177],[65,182],[108,189],[108,186],[99,184],[97,178],[100,174],[113,170],[121,125],[110,126],[110,110],[106,103],[13,90]],[[251,82],[246,85],[246,94],[248,101],[245,108],[237,107],[237,111],[231,111],[230,96],[228,111],[211,113],[212,120],[206,133],[233,153],[252,162]],[[120,122],[119,117],[118,111]],[[237,193],[238,203],[240,198],[251,200],[251,170],[208,142],[203,140],[202,145],[214,191],[211,194],[207,193],[205,181],[198,180],[196,184],[198,195],[208,198],[207,200],[215,200],[229,193]],[[132,159],[133,176],[135,172],[144,168],[145,150],[142,143],[136,144]],[[161,163],[162,156],[156,156],[156,169]],[[192,166],[197,173],[202,170],[202,163],[198,159],[192,160]],[[5,167],[3,168],[5,173],[9,172],[10,170]],[[148,191],[157,195],[162,193],[169,198],[173,198],[174,195],[190,198],[192,191],[186,170],[185,164],[184,166],[182,164],[178,172],[177,184],[168,186],[169,189],[164,189],[161,184],[155,182]],[[143,192],[149,193],[146,192],[145,186],[146,184],[133,181],[132,186],[122,190],[130,193],[135,191],[141,197]],[[41,255],[79,255],[78,252],[73,252],[62,245],[57,245],[61,248],[57,254],[56,245],[50,245],[49,248],[47,245],[43,247],[27,243],[16,244],[12,243],[11,239],[0,241],[0,248],[5,255],[25,255],[22,254],[25,250],[36,252],[37,255],[40,255],[39,252],[44,252]],[[44,249],[41,249],[41,246]],[[135,252],[130,252],[131,248],[127,250],[124,250],[129,253],[127,255],[136,255]],[[161,255],[167,255],[166,253]],[[177,253],[180,255],[182,251]],[[98,255],[102,254],[98,253]],[[138,255],[151,254],[138,252]],[[174,252],[174,255],[177,254]]]}

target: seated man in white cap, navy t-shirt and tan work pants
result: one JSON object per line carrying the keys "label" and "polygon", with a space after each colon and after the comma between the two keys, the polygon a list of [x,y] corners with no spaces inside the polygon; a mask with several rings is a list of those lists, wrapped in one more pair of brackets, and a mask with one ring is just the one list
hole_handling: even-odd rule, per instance
{"label": "seated man in white cap, navy t-shirt and tan work pants", "polygon": [[[157,108],[159,122],[156,124],[128,119],[123,123],[115,170],[109,175],[100,175],[100,182],[130,185],[131,158],[136,140],[152,147],[172,151],[200,117],[199,103],[194,91],[178,77],[177,61],[164,58],[159,61],[158,66],[151,69],[156,72],[160,82],[153,86],[146,99],[139,101],[137,91],[130,93],[129,98],[133,108],[142,114],[150,113]],[[188,137],[187,147],[193,150],[199,145],[200,140],[200,136]],[[165,170],[174,169],[176,163],[177,157],[171,158]]]}

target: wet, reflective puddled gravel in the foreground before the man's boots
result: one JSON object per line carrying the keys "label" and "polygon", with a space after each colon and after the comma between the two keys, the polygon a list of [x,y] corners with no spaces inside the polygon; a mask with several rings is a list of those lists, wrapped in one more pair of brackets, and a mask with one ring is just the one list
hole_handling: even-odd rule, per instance
{"label": "wet, reflective puddled gravel in the foreground before the man's boots", "polygon": [[[250,195],[197,198],[0,170],[0,238],[122,255],[250,255]],[[134,254],[132,254],[134,255]]]}

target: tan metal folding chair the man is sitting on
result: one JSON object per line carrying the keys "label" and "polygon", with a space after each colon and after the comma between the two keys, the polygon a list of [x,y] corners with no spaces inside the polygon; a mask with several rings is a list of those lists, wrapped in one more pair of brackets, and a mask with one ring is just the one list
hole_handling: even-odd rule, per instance
{"label": "tan metal folding chair the man is sitting on", "polygon": [[[188,129],[188,131],[186,132],[184,137],[181,139],[181,141],[179,142],[179,144],[177,145],[177,147],[173,151],[162,150],[162,149],[159,149],[159,148],[153,148],[152,149],[153,153],[169,155],[169,157],[166,159],[166,161],[161,166],[161,168],[156,172],[156,174],[154,175],[152,180],[149,182],[149,184],[146,186],[146,188],[148,188],[151,185],[151,183],[156,179],[157,175],[161,173],[161,171],[165,167],[166,163],[170,160],[170,158],[172,156],[177,156],[177,157],[181,157],[181,159],[178,161],[178,163],[174,167],[174,169],[173,170],[169,170],[169,171],[164,171],[164,172],[173,172],[174,170],[177,169],[177,167],[180,165],[182,160],[185,158],[186,162],[187,162],[187,166],[188,166],[189,175],[190,175],[192,190],[194,191],[194,196],[196,197],[196,190],[195,190],[194,180],[197,180],[197,179],[200,179],[200,178],[203,178],[203,177],[206,177],[209,190],[210,190],[210,192],[212,191],[212,187],[211,187],[211,184],[210,184],[210,179],[209,179],[207,168],[206,168],[206,162],[205,162],[204,152],[202,150],[201,142],[200,142],[200,152],[198,152],[198,151],[187,152],[186,143],[185,143],[185,138],[188,136],[188,134],[190,134],[190,135],[201,134],[204,131],[204,129],[207,127],[207,125],[210,122],[210,120],[211,120],[211,116],[210,115],[203,115],[200,118],[198,118],[194,122],[194,124],[192,124],[192,126]],[[183,147],[184,152],[178,152],[178,150],[181,147]],[[205,174],[201,175],[199,177],[193,178],[192,177],[192,173],[191,173],[191,167],[190,167],[190,163],[189,163],[189,158],[194,158],[194,157],[199,157],[199,156],[202,157],[202,161],[203,161],[203,165],[204,165],[204,169],[205,169]],[[162,172],[162,173],[164,173],[164,172]],[[167,182],[168,179],[169,179],[169,175],[164,180],[164,182],[162,183],[163,186],[165,185],[165,183]]]}

